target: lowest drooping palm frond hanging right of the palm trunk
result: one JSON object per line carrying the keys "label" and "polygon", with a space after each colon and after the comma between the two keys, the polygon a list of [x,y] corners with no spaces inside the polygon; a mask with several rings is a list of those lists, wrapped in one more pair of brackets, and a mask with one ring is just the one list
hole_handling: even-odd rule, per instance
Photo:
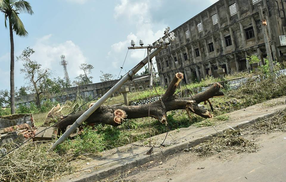
{"label": "lowest drooping palm frond hanging right of the palm trunk", "polygon": [[11,21],[14,32],[19,36],[27,36],[28,32],[26,31],[23,22],[21,21],[20,17],[18,16],[15,10],[12,10],[9,21]]}

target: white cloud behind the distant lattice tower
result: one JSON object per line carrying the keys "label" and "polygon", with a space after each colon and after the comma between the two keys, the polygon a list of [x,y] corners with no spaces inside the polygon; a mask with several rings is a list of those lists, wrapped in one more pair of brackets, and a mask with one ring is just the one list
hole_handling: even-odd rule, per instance
{"label": "white cloud behind the distant lattice tower", "polygon": [[65,41],[63,43],[50,44],[49,39],[52,35],[45,35],[38,39],[35,45],[31,46],[35,50],[32,55],[33,60],[37,60],[42,64],[43,68],[52,70],[52,76],[64,77],[63,67],[60,65],[60,56],[65,55],[68,61],[67,70],[71,80],[79,74],[83,74],[79,69],[81,63],[86,63],[86,57],[83,55],[80,47],[75,45],[72,41]]}

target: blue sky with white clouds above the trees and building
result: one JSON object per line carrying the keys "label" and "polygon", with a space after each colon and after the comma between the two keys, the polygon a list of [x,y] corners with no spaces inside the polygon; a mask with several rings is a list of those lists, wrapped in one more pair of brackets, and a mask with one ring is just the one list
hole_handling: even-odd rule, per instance
{"label": "blue sky with white clouds above the trees and building", "polygon": [[[60,55],[65,55],[68,74],[74,80],[83,72],[81,63],[94,66],[90,76],[100,82],[100,70],[118,76],[127,46],[133,39],[153,43],[164,28],[175,29],[217,0],[29,0],[34,14],[21,14],[27,37],[14,34],[15,56],[26,47],[35,50],[32,59],[49,68],[52,77],[63,77]],[[1,18],[2,17],[2,18]],[[0,13],[0,89],[10,88],[10,37]],[[144,50],[130,50],[121,74],[144,57]],[[27,83],[15,62],[15,86]],[[116,79],[117,77],[115,77]]]}

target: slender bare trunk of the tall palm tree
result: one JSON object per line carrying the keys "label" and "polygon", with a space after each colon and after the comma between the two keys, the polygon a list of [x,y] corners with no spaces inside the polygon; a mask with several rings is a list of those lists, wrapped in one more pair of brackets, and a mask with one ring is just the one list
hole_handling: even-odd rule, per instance
{"label": "slender bare trunk of the tall palm tree", "polygon": [[10,29],[10,43],[11,43],[11,63],[10,63],[10,107],[11,114],[15,114],[15,88],[14,88],[14,40],[12,21],[9,17],[9,29]]}

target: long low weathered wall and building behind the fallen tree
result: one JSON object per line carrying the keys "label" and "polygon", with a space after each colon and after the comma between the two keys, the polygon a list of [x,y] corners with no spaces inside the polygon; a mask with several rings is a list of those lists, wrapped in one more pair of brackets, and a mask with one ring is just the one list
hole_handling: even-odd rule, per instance
{"label": "long low weathered wall and building behind the fallen tree", "polygon": [[[149,75],[141,75],[141,76],[133,76],[132,80],[129,80],[126,82],[122,87],[129,87],[129,90],[132,91],[143,91],[150,88],[150,77]],[[106,82],[100,82],[100,83],[92,83],[88,85],[82,85],[77,87],[70,87],[65,88],[61,91],[60,95],[54,95],[54,96],[48,96],[48,98],[52,102],[59,102],[64,103],[67,100],[74,100],[77,97],[77,94],[79,93],[82,98],[89,100],[91,98],[98,99],[102,97],[107,91],[109,91],[115,83],[117,83],[118,80],[111,80]],[[120,93],[118,91],[115,91],[113,96],[117,96]],[[23,104],[23,105],[30,105],[31,102],[35,102],[35,94],[29,94],[26,96],[21,97],[15,97],[15,103],[16,105]],[[43,103],[46,101],[46,98],[41,99],[41,102]]]}

